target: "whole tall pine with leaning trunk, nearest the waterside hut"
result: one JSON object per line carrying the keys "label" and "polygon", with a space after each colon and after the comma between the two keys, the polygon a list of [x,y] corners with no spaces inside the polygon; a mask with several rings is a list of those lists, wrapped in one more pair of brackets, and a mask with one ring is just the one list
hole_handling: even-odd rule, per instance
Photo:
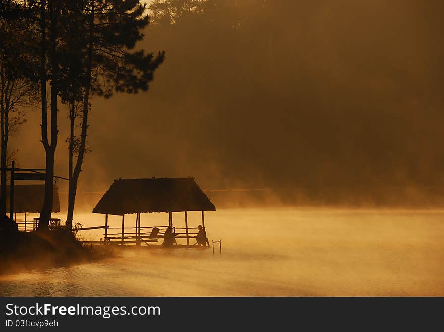
{"label": "whole tall pine with leaning trunk, nearest the waterside hut", "polygon": [[[70,110],[69,197],[67,228],[72,227],[77,181],[87,147],[88,112],[91,96],[111,97],[115,92],[138,93],[148,90],[164,52],[154,56],[133,50],[143,39],[142,29],[149,23],[145,5],[139,1],[90,0],[73,2],[66,16],[66,40],[61,79],[62,102]],[[73,16],[73,18],[70,18]],[[77,102],[82,106],[78,111]],[[75,134],[80,120],[80,134]],[[73,157],[77,160],[74,166]]]}

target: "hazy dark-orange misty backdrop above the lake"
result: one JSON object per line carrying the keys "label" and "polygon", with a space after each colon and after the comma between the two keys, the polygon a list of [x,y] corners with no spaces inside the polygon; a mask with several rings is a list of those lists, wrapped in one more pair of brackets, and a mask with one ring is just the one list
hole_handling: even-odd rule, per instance
{"label": "hazy dark-orange misty backdrop above the lake", "polygon": [[[217,3],[147,29],[140,47],[167,52],[148,93],[94,98],[79,191],[151,176],[204,188],[442,185],[440,1]],[[44,165],[39,116],[11,140],[22,166]],[[62,176],[66,116],[61,106]]]}

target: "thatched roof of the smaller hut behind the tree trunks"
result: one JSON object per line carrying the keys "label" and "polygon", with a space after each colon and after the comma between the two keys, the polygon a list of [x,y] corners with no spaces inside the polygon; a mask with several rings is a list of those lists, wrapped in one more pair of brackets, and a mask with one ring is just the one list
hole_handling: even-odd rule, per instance
{"label": "thatched roof of the smaller hut behind the tree trunks", "polygon": [[[9,186],[6,187],[6,209],[9,212]],[[40,213],[45,196],[44,184],[14,185],[14,212]],[[59,192],[54,185],[52,212],[60,212]]]}

